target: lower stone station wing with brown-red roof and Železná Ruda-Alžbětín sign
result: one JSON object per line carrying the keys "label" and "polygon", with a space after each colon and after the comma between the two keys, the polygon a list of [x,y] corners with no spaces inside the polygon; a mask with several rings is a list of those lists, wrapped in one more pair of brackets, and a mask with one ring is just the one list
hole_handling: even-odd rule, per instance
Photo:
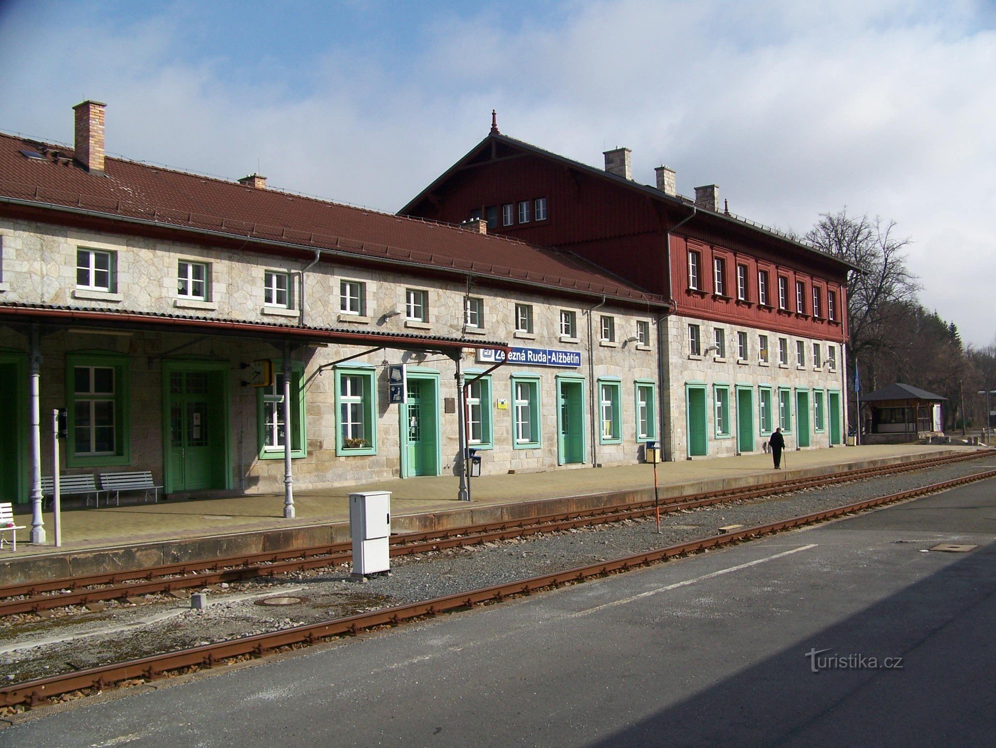
{"label": "lower stone station wing with brown-red roof and \u017delezn\u00e1 Ruda-Al\u017eb\u011bt\u00edn sign", "polygon": [[[567,248],[0,134],[0,500],[628,463],[658,438],[665,295]],[[593,310],[598,310],[595,314]],[[404,370],[394,369],[403,365]],[[399,375],[388,381],[388,371]],[[40,415],[41,414],[41,415]]]}

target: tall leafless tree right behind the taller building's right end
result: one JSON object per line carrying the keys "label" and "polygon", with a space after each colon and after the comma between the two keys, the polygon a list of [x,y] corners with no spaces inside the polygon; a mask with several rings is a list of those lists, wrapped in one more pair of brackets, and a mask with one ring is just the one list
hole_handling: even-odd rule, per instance
{"label": "tall leafless tree right behind the taller building's right end", "polygon": [[847,207],[822,214],[805,239],[861,268],[848,278],[852,354],[868,358],[870,365],[876,358],[900,355],[891,331],[915,304],[919,288],[905,264],[903,250],[910,240],[895,235],[894,221],[851,216]]}

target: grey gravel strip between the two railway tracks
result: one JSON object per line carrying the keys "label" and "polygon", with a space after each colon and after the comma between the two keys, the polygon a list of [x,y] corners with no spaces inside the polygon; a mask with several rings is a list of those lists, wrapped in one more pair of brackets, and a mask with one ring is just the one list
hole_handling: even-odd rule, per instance
{"label": "grey gravel strip between the two railway tracks", "polygon": [[[991,467],[958,463],[665,514],[659,535],[651,517],[406,556],[391,561],[390,577],[367,584],[350,581],[344,565],[220,585],[207,592],[210,605],[202,611],[186,600],[149,595],[140,605],[109,602],[98,612],[76,607],[44,619],[9,617],[0,620],[0,683],[468,592],[713,536],[725,525],[763,525],[986,469]],[[290,595],[304,600],[282,607],[257,604]]]}

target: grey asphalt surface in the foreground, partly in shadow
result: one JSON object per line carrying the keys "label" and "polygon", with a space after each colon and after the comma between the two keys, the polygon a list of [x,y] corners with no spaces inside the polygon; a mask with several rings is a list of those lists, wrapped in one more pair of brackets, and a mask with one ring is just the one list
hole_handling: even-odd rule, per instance
{"label": "grey asphalt surface in the foreground, partly in shadow", "polygon": [[994,494],[46,711],[0,746],[996,745]]}

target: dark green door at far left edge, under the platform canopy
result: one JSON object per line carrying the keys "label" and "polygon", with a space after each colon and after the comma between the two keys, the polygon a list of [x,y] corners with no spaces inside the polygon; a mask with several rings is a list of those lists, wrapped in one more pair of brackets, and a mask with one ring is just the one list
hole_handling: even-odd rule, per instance
{"label": "dark green door at far left edge, under the platform canopy", "polygon": [[27,357],[0,354],[0,502],[28,501],[27,376]]}

